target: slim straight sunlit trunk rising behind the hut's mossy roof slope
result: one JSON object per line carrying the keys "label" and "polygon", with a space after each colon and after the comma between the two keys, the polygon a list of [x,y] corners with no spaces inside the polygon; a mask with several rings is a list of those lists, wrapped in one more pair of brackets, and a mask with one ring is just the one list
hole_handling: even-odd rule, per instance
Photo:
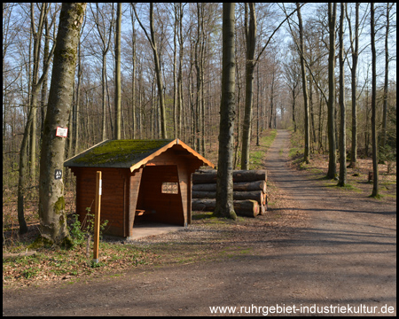
{"label": "slim straight sunlit trunk rising behind the hut's mossy roof slope", "polygon": [[121,139],[121,3],[116,9],[115,31],[115,133],[114,139]]}

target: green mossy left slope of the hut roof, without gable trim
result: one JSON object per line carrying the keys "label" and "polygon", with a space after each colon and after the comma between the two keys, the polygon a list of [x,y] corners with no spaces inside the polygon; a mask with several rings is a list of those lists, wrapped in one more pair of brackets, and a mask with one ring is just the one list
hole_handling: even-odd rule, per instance
{"label": "green mossy left slope of the hut roof, without gable trim", "polygon": [[172,140],[108,140],[68,159],[66,167],[130,167]]}

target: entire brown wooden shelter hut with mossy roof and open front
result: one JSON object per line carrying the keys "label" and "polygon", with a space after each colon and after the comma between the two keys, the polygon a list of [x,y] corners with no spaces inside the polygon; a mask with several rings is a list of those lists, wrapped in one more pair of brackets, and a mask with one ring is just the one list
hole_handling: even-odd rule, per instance
{"label": "entire brown wooden shelter hut with mossy roof and open front", "polygon": [[66,159],[76,176],[76,214],[94,211],[96,172],[102,172],[105,233],[131,237],[135,220],[185,226],[192,217],[192,173],[209,160],[175,140],[106,140]]}

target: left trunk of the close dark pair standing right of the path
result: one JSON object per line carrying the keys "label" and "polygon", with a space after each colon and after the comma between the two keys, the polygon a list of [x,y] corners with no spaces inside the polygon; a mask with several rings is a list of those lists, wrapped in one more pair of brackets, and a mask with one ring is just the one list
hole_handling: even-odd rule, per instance
{"label": "left trunk of the close dark pair standing right of the path", "polygon": [[337,152],[335,148],[335,22],[337,4],[328,4],[330,50],[328,55],[328,178],[337,175]]}

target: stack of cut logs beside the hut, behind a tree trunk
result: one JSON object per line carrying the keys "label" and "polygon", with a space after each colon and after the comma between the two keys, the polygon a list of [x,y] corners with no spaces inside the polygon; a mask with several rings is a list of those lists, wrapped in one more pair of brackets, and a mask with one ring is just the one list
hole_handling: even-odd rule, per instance
{"label": "stack of cut logs beside the hut, behind a tree trunk", "polygon": [[[192,175],[192,210],[214,211],[216,206],[215,169],[200,169]],[[239,216],[255,217],[267,210],[266,170],[233,171],[233,204]]]}

